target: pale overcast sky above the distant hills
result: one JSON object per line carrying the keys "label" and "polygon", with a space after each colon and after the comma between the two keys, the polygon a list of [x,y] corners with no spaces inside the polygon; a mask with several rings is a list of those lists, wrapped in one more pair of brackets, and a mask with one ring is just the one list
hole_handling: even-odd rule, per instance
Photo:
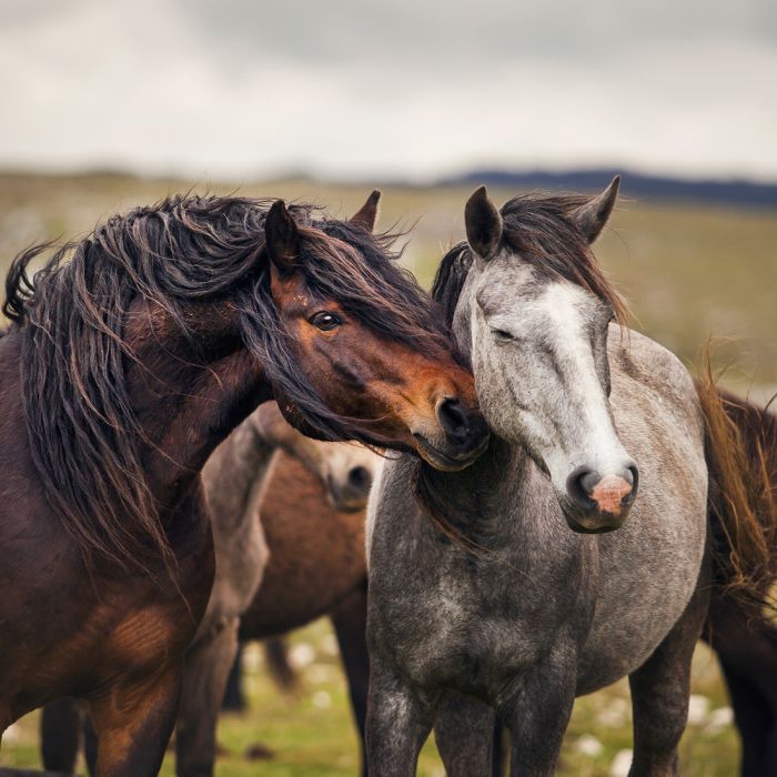
{"label": "pale overcast sky above the distant hills", "polygon": [[776,0],[0,0],[0,165],[777,180]]}

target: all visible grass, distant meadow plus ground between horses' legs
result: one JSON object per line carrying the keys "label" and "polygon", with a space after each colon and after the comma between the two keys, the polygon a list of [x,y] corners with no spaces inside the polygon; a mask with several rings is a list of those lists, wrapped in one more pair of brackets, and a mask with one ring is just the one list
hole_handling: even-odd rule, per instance
{"label": "all visible grass, distant meadow plus ground between horses' legs", "polygon": [[[31,242],[75,236],[99,220],[133,204],[148,203],[191,182],[145,181],[117,175],[42,178],[0,175],[0,270]],[[205,190],[204,183],[196,184]],[[213,186],[234,191],[235,186]],[[351,213],[367,191],[307,181],[241,185],[241,193],[300,198]],[[502,201],[511,192],[493,191]],[[444,249],[460,240],[468,191],[386,188],[380,225],[417,224],[405,261],[427,284]],[[724,382],[756,398],[777,389],[777,218],[769,212],[699,209],[689,205],[625,203],[597,255],[625,293],[635,326],[687,361],[698,356],[709,334],[726,337],[720,364],[733,361]],[[243,777],[354,775],[359,756],[335,643],[325,623],[294,636],[293,656],[302,674],[294,697],[279,694],[262,672],[261,654],[249,653],[250,712],[224,717],[220,740],[225,756],[218,774]],[[579,776],[625,774],[630,746],[628,690],[618,684],[578,700],[561,771]],[[699,648],[694,667],[692,722],[683,741],[683,775],[736,774],[738,744],[714,657]],[[275,754],[245,761],[246,747],[261,740]],[[171,759],[165,775],[172,775]],[[16,724],[3,739],[0,766],[36,766],[37,716]],[[441,775],[432,745],[420,774]]]}

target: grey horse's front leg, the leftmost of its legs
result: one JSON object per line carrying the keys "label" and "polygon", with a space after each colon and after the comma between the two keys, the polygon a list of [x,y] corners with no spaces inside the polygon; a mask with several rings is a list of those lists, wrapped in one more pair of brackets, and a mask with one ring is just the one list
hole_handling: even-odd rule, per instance
{"label": "grey horse's front leg, the leftmost of its legs", "polygon": [[434,722],[433,705],[372,655],[366,717],[371,777],[414,777]]}

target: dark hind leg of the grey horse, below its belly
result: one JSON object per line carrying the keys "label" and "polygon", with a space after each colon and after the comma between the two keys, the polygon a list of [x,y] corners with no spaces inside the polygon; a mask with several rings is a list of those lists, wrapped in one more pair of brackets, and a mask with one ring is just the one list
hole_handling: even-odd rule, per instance
{"label": "dark hind leg of the grey horse, below its belly", "polygon": [[709,607],[706,574],[654,654],[629,675],[634,710],[630,777],[677,774],[677,746],[688,718],[690,660]]}

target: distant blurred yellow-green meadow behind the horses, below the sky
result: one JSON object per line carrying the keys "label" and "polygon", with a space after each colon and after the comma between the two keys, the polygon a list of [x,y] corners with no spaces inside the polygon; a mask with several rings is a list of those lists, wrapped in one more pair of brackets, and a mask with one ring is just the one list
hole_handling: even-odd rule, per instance
{"label": "distant blurred yellow-green meadow behind the horses, below the sky", "polygon": [[[144,180],[120,175],[44,178],[0,174],[0,271],[32,242],[72,238],[100,220],[165,194],[239,192],[302,199],[350,214],[366,186],[313,181],[236,182]],[[379,226],[414,228],[405,259],[428,284],[442,252],[463,238],[470,189],[384,186]],[[515,192],[493,190],[496,202]],[[695,205],[622,202],[596,254],[634,313],[634,325],[685,360],[708,335],[720,337],[726,381],[765,398],[777,390],[777,213]],[[725,342],[724,342],[725,341]]]}

